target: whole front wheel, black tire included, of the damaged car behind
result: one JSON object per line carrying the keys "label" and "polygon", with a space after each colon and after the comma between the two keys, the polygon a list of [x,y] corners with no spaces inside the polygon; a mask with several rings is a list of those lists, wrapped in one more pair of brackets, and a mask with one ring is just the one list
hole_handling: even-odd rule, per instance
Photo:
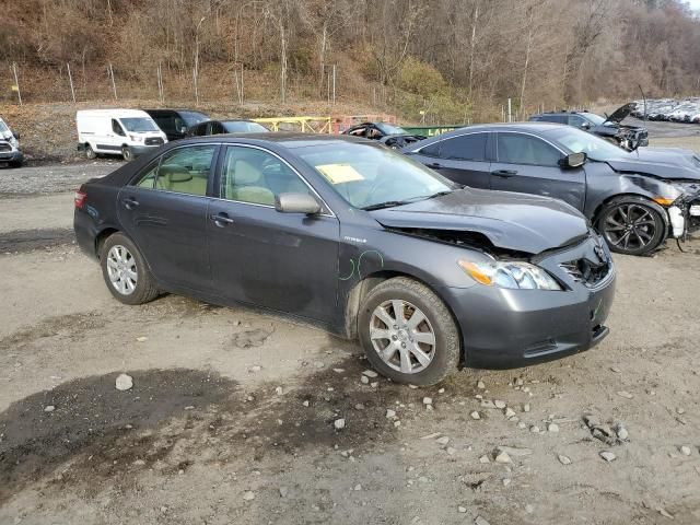
{"label": "whole front wheel, black tire included, of the damaged car behind", "polygon": [[596,228],[610,250],[646,255],[665,240],[668,225],[664,209],[642,197],[620,197],[600,210]]}

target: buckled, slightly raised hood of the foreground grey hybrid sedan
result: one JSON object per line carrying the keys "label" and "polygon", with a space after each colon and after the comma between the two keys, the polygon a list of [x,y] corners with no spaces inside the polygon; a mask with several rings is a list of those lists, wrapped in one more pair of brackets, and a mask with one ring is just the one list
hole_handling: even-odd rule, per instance
{"label": "buckled, slightly raised hood of the foreground grey hybrid sedan", "polygon": [[585,218],[573,207],[508,191],[468,188],[370,213],[386,228],[475,232],[493,246],[528,254],[567,246],[588,234]]}

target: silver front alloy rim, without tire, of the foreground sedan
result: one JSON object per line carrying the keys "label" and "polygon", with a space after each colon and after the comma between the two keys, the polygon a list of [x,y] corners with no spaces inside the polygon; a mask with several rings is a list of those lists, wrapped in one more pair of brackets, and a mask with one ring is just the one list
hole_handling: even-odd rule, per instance
{"label": "silver front alloy rim, without tire, of the foreground sedan", "polygon": [[430,320],[420,308],[400,299],[374,308],[370,339],[380,358],[404,374],[425,370],[435,355],[435,332]]}

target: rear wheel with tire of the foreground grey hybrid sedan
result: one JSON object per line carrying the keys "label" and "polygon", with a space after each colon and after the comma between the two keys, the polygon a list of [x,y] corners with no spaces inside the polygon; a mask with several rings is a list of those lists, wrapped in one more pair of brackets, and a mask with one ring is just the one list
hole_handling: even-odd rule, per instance
{"label": "rear wheel with tire of the foreground grey hybrid sedan", "polygon": [[[121,260],[115,257],[119,255]],[[122,233],[112,234],[104,242],[100,265],[107,289],[121,303],[143,304],[158,298],[159,290],[143,256]]]}

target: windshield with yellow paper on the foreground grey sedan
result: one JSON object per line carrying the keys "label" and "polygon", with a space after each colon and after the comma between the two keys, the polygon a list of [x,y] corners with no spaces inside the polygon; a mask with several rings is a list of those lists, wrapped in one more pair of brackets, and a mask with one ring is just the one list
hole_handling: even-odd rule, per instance
{"label": "windshield with yellow paper on the foreground grey sedan", "polygon": [[383,145],[328,145],[302,147],[294,152],[355,208],[420,200],[457,188],[422,164]]}

